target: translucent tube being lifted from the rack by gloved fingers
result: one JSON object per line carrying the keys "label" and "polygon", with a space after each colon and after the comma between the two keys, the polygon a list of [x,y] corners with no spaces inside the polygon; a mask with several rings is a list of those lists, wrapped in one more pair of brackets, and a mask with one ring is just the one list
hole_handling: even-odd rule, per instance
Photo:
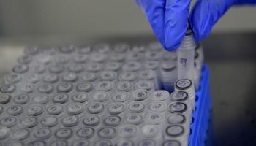
{"label": "translucent tube being lifted from the rack by gloved fingers", "polygon": [[188,29],[181,46],[177,50],[178,79],[194,79],[195,47],[193,33]]}

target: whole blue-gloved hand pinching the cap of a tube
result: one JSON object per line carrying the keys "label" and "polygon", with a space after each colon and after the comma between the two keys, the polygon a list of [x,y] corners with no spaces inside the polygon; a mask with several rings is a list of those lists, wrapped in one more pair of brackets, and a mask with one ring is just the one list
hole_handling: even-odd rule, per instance
{"label": "whole blue-gloved hand pinching the cap of a tube", "polygon": [[256,4],[256,0],[197,0],[189,15],[191,0],[137,0],[151,23],[154,34],[167,50],[175,50],[187,31],[187,23],[196,42],[205,39],[211,28],[236,4]]}

